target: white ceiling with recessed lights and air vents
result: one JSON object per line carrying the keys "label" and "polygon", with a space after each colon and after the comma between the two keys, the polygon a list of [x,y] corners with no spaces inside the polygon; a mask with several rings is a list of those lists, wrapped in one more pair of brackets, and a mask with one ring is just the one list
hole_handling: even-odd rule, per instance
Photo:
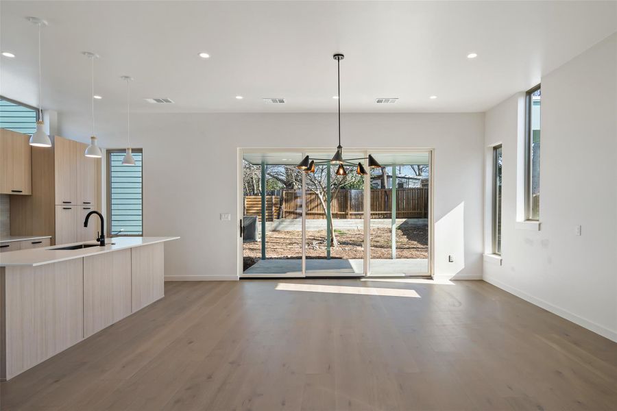
{"label": "white ceiling with recessed lights and air vents", "polygon": [[[36,27],[43,29],[44,108],[136,112],[334,112],[341,62],[345,112],[476,112],[617,30],[614,1],[2,1],[0,94],[38,104]],[[210,53],[209,60],[197,56]],[[468,53],[478,58],[468,60]],[[243,95],[237,100],[236,95]],[[428,99],[437,95],[437,99]],[[167,97],[173,105],[153,105]],[[266,105],[262,97],[285,97]],[[376,97],[398,97],[377,105]]]}

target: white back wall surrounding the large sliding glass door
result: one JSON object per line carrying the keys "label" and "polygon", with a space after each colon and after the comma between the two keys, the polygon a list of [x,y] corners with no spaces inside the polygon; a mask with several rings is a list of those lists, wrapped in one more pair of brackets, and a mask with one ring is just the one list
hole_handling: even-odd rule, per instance
{"label": "white back wall surrounding the large sliding glass door", "polygon": [[[60,132],[73,123],[63,115]],[[170,277],[237,278],[238,147],[337,144],[335,114],[135,114],[131,127],[144,150],[144,234],[182,237],[165,245]],[[482,275],[483,128],[483,114],[343,114],[347,149],[435,149],[438,276]]]}

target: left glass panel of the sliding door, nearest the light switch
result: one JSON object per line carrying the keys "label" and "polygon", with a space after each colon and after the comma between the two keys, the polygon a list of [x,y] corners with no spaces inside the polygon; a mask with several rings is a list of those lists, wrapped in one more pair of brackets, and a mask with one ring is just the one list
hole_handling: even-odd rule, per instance
{"label": "left glass panel of the sliding door, nearest the light switch", "polygon": [[302,277],[301,152],[243,154],[243,275]]}

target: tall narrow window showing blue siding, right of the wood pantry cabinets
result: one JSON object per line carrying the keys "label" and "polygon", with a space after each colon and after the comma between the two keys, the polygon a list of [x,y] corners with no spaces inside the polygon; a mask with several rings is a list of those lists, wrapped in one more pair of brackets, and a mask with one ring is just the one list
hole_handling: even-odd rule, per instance
{"label": "tall narrow window showing blue siding, right of the wood pantry cabinets", "polygon": [[134,166],[122,164],[125,150],[107,150],[108,230],[114,236],[143,235],[141,149],[133,149]]}

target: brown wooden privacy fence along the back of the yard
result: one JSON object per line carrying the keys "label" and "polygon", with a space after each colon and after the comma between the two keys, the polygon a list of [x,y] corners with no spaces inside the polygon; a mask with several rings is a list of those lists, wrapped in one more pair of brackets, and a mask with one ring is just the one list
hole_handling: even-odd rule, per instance
{"label": "brown wooden privacy fence along the back of the yard", "polygon": [[[325,199],[324,199],[325,201]],[[261,197],[244,197],[244,215],[261,216]],[[364,216],[364,190],[339,190],[332,199],[332,217],[335,219],[362,219]],[[302,198],[298,190],[282,190],[281,196],[266,197],[266,221],[274,219],[300,219]],[[392,190],[371,190],[371,218],[391,219]],[[325,219],[326,213],[315,192],[306,192],[306,219]],[[397,188],[396,218],[428,219],[428,188]],[[261,219],[261,217],[260,217]]]}

